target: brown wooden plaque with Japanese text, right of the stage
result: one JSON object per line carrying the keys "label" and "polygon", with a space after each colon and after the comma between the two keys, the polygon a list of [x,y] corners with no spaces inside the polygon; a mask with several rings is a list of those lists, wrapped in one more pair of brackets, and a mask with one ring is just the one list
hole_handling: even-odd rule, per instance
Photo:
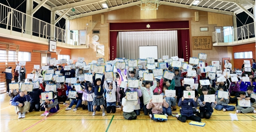
{"label": "brown wooden plaque with Japanese text, right of the stage", "polygon": [[193,50],[212,49],[211,36],[192,37]]}

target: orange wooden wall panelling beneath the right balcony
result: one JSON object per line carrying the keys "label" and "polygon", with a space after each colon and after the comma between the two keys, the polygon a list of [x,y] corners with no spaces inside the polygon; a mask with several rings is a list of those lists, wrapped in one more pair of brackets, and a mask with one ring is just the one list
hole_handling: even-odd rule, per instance
{"label": "orange wooden wall panelling beneath the right balcony", "polygon": [[[235,52],[245,52],[245,51],[252,51],[252,58],[255,59],[256,52],[255,52],[255,43],[248,43],[243,45],[235,45],[233,46],[233,58]],[[234,58],[234,65],[233,68],[242,68],[243,60],[252,60],[252,59],[235,59]],[[252,63],[251,63],[252,65]]]}

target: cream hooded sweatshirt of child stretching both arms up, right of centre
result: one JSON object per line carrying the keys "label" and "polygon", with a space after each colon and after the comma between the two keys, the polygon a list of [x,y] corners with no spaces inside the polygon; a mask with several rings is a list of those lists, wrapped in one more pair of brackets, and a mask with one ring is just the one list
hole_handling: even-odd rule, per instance
{"label": "cream hooded sweatshirt of child stretching both arms up, right of centre", "polygon": [[142,96],[143,96],[143,103],[144,105],[148,104],[149,99],[152,99],[152,95],[153,95],[153,90],[156,89],[156,81],[153,81],[154,85],[151,86],[149,89],[147,89],[146,87],[142,87],[142,81],[139,81],[139,86],[141,87],[141,92],[142,92]]}

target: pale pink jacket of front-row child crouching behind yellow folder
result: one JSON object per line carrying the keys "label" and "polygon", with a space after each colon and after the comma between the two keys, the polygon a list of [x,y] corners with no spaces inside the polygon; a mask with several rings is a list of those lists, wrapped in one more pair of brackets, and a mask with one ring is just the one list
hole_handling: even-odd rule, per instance
{"label": "pale pink jacket of front-row child crouching behind yellow folder", "polygon": [[147,104],[147,109],[152,108],[152,113],[153,114],[161,114],[163,113],[163,107],[168,108],[169,104],[167,102],[163,103],[148,103]]}

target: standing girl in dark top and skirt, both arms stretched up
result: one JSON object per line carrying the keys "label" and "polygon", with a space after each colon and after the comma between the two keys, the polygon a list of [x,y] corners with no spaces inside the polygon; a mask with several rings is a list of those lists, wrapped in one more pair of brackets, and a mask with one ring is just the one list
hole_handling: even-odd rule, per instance
{"label": "standing girl in dark top and skirt, both arms stretched up", "polygon": [[96,112],[96,106],[100,105],[100,108],[102,109],[102,116],[105,116],[105,109],[103,105],[105,104],[103,94],[104,94],[104,89],[103,89],[103,84],[104,84],[104,79],[105,79],[105,72],[103,73],[102,79],[97,78],[95,80],[95,72],[93,72],[93,92],[95,93],[95,98],[93,98],[93,116],[95,116]]}

